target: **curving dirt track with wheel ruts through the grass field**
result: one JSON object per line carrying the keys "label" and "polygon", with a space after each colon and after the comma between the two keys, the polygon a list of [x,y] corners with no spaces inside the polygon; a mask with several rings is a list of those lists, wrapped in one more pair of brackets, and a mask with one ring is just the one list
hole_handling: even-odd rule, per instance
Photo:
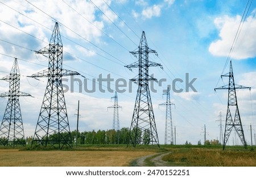
{"label": "curving dirt track with wheel ruts through the grass field", "polygon": [[146,159],[149,159],[149,162],[151,162],[152,165],[156,167],[170,166],[168,165],[168,162],[164,162],[162,160],[163,156],[167,154],[170,154],[170,151],[163,152],[160,154],[143,156],[134,161],[134,166],[148,166],[147,163],[145,162]]}

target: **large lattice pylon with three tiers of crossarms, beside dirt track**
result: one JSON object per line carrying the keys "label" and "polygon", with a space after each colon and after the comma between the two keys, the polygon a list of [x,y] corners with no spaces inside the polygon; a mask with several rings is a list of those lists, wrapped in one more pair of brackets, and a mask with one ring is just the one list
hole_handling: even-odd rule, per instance
{"label": "large lattice pylon with three tiers of crossarms, beside dirt track", "polygon": [[137,144],[152,144],[159,147],[155,116],[150,97],[150,88],[148,87],[148,81],[157,80],[148,75],[148,67],[159,66],[162,68],[162,65],[148,61],[148,53],[155,53],[156,55],[157,53],[155,50],[148,48],[144,31],[142,32],[138,51],[130,53],[134,56],[139,55],[139,61],[126,65],[125,67],[129,69],[139,68],[139,74],[137,78],[131,79],[131,81],[138,82],[138,91],[127,146],[129,146],[129,144],[133,144],[134,147]]}

